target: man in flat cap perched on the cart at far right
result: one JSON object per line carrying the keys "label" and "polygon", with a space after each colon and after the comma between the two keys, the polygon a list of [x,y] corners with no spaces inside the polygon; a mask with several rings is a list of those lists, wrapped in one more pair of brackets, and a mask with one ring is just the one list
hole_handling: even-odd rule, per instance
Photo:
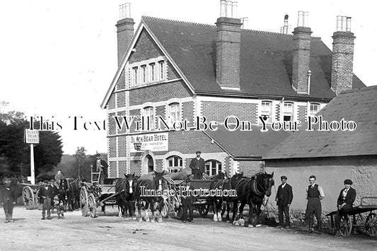
{"label": "man in flat cap perched on the cart at far right", "polygon": [[344,180],[344,188],[340,191],[337,198],[337,214],[335,215],[335,230],[336,234],[340,230],[340,218],[347,216],[347,213],[352,209],[356,199],[356,190],[351,187],[352,180]]}

